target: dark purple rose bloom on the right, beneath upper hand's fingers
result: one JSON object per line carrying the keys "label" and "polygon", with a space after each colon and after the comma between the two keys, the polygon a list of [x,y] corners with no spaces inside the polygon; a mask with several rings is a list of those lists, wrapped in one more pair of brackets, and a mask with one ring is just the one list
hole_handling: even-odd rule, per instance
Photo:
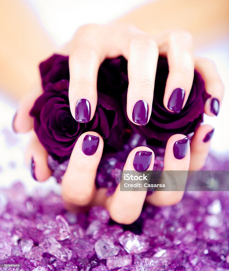
{"label": "dark purple rose bloom on the right, beneath upper hand's fingers", "polygon": [[[169,112],[163,105],[168,73],[167,59],[159,57],[150,120],[146,126],[135,125],[129,121],[132,129],[145,137],[151,146],[166,142],[174,134],[188,135],[195,132],[203,121],[204,104],[210,97],[205,91],[204,80],[195,70],[192,89],[185,107],[179,114]],[[126,93],[123,95],[123,107],[126,107]],[[127,118],[126,111],[125,115]]]}

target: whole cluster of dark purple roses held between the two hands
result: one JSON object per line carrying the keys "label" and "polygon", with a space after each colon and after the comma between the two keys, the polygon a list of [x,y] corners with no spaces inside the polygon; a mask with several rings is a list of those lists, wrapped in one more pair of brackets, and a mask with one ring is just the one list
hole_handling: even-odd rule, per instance
{"label": "whole cluster of dark purple roses held between the two hands", "polygon": [[98,72],[95,115],[90,122],[80,123],[70,112],[68,56],[51,56],[40,64],[40,74],[44,92],[30,114],[41,144],[59,163],[69,159],[78,137],[86,131],[96,131],[104,138],[105,152],[122,149],[132,133],[142,135],[150,146],[166,142],[173,134],[190,134],[203,121],[204,103],[210,97],[195,71],[184,109],[179,114],[169,112],[163,105],[168,62],[159,57],[150,120],[146,126],[135,125],[126,114],[127,61],[124,57],[106,59]]}

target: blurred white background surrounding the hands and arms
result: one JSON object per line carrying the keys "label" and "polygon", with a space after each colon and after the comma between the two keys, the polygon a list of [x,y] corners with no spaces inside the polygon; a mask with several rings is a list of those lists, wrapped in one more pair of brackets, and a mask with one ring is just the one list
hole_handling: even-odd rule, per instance
{"label": "blurred white background surrounding the hands and arms", "polygon": [[[27,0],[32,5],[44,28],[54,42],[61,46],[74,34],[77,27],[86,23],[106,23],[133,7],[145,1],[140,0],[84,0],[84,1],[55,1],[55,0]],[[106,12],[104,12],[106,10]],[[225,85],[225,96],[218,117],[205,116],[205,123],[215,127],[212,140],[212,150],[217,155],[227,153],[229,156],[229,37],[211,43],[196,51],[196,54],[212,59]],[[0,92],[0,185],[9,185],[15,180],[24,182],[29,191],[34,186],[45,189],[54,187],[59,189],[50,179],[45,184],[38,184],[30,176],[30,169],[24,165],[24,149],[28,142],[28,135],[14,135],[11,132],[11,119],[17,109],[17,104],[6,98]]]}

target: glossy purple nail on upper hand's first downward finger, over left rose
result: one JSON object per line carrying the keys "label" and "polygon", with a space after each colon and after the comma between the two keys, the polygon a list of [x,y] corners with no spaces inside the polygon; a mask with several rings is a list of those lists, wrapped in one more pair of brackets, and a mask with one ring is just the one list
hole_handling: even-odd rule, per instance
{"label": "glossy purple nail on upper hand's first downward finger, over left rose", "polygon": [[89,122],[91,118],[91,107],[87,99],[78,99],[76,103],[75,118],[78,122]]}

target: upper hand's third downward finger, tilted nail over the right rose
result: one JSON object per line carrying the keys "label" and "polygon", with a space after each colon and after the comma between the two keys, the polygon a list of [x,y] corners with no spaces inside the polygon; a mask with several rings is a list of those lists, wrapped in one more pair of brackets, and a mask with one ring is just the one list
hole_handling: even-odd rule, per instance
{"label": "upper hand's third downward finger, tilted nail over the right rose", "polygon": [[163,103],[169,111],[179,113],[188,100],[194,78],[193,39],[187,31],[177,30],[156,40],[159,53],[167,56],[169,65]]}

